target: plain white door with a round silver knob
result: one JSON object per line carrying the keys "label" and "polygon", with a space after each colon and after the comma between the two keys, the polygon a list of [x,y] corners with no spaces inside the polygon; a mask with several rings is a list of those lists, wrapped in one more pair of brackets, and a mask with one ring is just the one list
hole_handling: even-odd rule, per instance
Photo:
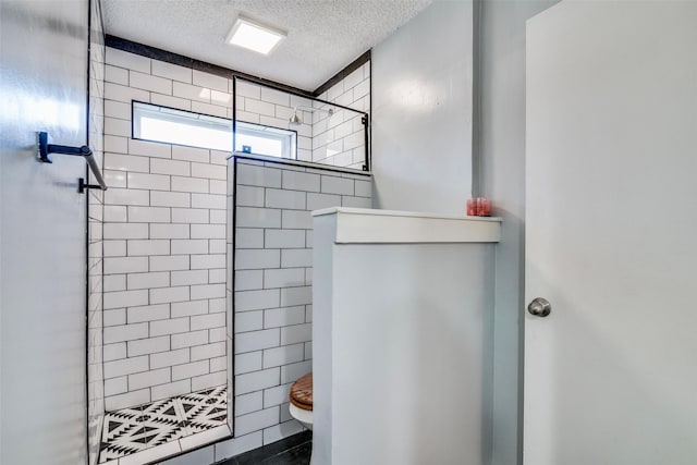
{"label": "plain white door with a round silver knob", "polygon": [[697,2],[527,25],[525,465],[697,463]]}

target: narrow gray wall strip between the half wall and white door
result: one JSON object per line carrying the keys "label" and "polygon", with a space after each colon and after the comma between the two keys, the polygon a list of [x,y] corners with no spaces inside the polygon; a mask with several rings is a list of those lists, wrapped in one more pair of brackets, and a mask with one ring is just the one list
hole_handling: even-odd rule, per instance
{"label": "narrow gray wall strip between the half wall and white door", "polygon": [[518,360],[525,252],[525,21],[550,1],[482,1],[477,19],[480,112],[475,115],[479,182],[503,218],[497,246],[491,463],[518,463],[522,435]]}

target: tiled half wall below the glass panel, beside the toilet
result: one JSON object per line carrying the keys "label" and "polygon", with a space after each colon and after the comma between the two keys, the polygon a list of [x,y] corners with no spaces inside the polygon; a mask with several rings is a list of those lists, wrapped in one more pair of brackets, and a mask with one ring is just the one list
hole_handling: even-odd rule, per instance
{"label": "tiled half wall below the glass panel, beside the toilet", "polygon": [[[234,298],[234,430],[262,430],[261,445],[302,430],[288,414],[288,399],[292,382],[311,370],[310,211],[318,204],[369,208],[371,178],[233,158],[228,180],[229,203],[236,208],[229,258],[234,283],[228,274],[228,298]],[[232,249],[232,218],[228,231]]]}

